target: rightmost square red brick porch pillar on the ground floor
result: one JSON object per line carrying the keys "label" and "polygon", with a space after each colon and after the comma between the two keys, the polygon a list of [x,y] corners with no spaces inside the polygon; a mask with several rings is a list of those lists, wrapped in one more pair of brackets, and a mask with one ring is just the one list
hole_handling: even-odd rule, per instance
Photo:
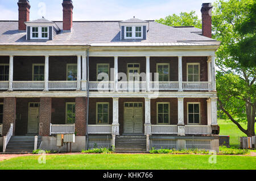
{"label": "rightmost square red brick porch pillar on the ground floor", "polygon": [[76,136],[85,136],[86,134],[86,109],[87,98],[76,97]]}

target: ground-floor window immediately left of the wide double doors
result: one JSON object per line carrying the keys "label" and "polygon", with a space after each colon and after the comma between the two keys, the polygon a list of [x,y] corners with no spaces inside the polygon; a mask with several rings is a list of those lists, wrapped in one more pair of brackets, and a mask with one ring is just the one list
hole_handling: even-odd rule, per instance
{"label": "ground-floor window immediately left of the wide double doors", "polygon": [[96,112],[96,124],[109,124],[109,103],[97,103]]}

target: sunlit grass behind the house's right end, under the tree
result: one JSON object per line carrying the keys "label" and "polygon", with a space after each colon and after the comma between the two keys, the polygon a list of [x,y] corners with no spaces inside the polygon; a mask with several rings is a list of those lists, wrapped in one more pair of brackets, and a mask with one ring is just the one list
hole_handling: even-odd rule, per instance
{"label": "sunlit grass behind the house's right end, under the tree", "polygon": [[[243,128],[247,127],[247,124],[240,123]],[[220,125],[220,135],[229,135],[230,136],[230,146],[238,147],[239,146],[239,137],[246,136],[245,133],[241,132],[240,129],[237,127],[230,120],[218,120],[218,125]],[[256,124],[255,124],[256,128]]]}

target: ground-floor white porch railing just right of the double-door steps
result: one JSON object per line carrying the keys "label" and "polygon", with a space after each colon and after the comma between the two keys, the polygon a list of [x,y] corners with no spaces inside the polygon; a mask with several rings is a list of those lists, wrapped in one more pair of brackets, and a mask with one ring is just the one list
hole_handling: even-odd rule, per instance
{"label": "ground-floor white porch railing just right of the double-door steps", "polygon": [[152,134],[177,134],[177,125],[151,125]]}

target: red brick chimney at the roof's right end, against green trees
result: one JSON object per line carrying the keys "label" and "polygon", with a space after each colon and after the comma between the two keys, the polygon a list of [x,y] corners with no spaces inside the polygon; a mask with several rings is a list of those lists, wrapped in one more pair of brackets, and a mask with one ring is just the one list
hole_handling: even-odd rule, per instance
{"label": "red brick chimney at the roof's right end, against green trees", "polygon": [[212,37],[212,3],[203,3],[202,8],[203,36]]}

